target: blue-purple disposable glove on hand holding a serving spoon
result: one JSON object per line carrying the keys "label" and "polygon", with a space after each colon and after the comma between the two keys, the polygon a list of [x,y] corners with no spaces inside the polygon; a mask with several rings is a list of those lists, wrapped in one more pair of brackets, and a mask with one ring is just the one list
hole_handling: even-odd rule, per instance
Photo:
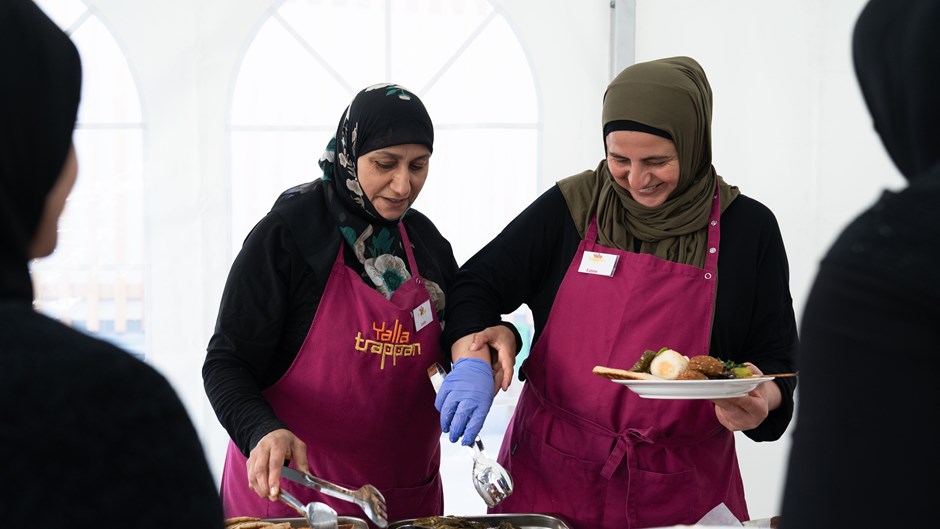
{"label": "blue-purple disposable glove on hand holding a serving spoon", "polygon": [[434,407],[441,412],[441,430],[450,442],[470,446],[483,429],[483,421],[496,396],[493,368],[479,358],[461,358],[444,377]]}

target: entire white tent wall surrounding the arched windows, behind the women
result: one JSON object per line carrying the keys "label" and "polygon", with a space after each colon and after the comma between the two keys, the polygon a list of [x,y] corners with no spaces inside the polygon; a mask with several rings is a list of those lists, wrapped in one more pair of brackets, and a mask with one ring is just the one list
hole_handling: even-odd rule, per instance
{"label": "entire white tent wall surrounding the arched windows, behind the women", "polygon": [[[201,365],[231,260],[229,106],[239,61],[278,2],[83,2],[124,51],[143,109],[148,359],[178,390],[220,476],[227,436],[203,392]],[[776,213],[798,316],[835,234],[881,189],[902,183],[852,70],[851,29],[863,0],[636,0],[620,2],[634,16],[613,18],[610,0],[492,3],[535,76],[542,135],[533,193],[603,155],[600,103],[612,57],[701,62],[714,90],[715,166]],[[619,53],[611,53],[612,33]],[[738,447],[752,517],[777,514],[789,433],[760,444],[739,436]]]}

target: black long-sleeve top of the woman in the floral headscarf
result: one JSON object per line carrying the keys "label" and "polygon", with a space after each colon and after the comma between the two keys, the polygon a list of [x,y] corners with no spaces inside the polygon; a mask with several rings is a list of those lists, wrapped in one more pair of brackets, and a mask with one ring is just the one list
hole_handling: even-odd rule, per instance
{"label": "black long-sleeve top of the woman in the floral headscarf", "polygon": [[[248,234],[229,271],[207,347],[206,395],[246,457],[265,434],[287,428],[261,392],[287,372],[300,351],[342,242],[321,183],[285,192]],[[457,272],[450,243],[416,210],[404,223],[420,275],[446,296]],[[346,265],[358,263],[349,245],[343,248]]]}

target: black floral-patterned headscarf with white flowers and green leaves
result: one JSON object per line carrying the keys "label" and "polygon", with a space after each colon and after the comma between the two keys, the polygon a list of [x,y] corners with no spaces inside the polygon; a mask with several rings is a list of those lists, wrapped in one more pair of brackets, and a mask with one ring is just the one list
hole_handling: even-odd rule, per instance
{"label": "black floral-patterned headscarf with white flowers and green leaves", "polygon": [[[424,104],[399,85],[377,84],[356,94],[320,158],[327,208],[362,265],[363,279],[386,298],[411,277],[398,231],[401,219],[379,215],[359,185],[357,162],[368,152],[412,143],[433,151],[434,127]],[[428,284],[432,299],[436,287]]]}

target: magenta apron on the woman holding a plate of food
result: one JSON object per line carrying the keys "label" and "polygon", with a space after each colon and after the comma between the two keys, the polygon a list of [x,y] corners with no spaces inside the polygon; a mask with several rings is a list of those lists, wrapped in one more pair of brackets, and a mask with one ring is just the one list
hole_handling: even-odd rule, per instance
{"label": "magenta apron on the woman holding a plate of food", "polygon": [[[724,502],[747,520],[734,434],[708,400],[644,399],[594,375],[646,349],[707,354],[719,241],[712,200],[705,268],[601,246],[592,220],[524,371],[500,447],[512,495],[491,513],[557,514],[575,529],[693,524]],[[578,271],[618,256],[613,276]]]}

